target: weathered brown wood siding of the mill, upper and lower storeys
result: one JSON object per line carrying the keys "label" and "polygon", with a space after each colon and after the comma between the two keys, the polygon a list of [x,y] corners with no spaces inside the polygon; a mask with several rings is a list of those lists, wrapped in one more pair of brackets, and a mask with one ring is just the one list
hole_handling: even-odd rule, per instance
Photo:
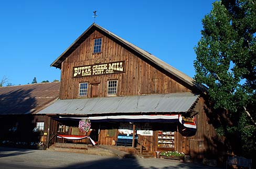
{"label": "weathered brown wood siding of the mill, upper and lower storeys", "polygon": [[[102,38],[101,53],[93,54],[93,40]],[[125,73],[88,76],[72,78],[72,69],[76,66],[93,65],[97,60],[103,63],[125,61]],[[60,99],[77,99],[79,83],[88,82],[88,97],[107,96],[107,81],[118,80],[118,96],[139,95],[139,94],[164,94],[191,92],[190,87],[178,82],[171,75],[163,73],[153,65],[150,65],[140,56],[128,51],[125,47],[109,39],[98,31],[94,31],[80,46],[72,52],[61,65],[61,87]],[[93,89],[93,93],[92,93]],[[97,89],[97,90],[96,90]],[[174,150],[190,154],[191,158],[203,158],[203,152],[214,151],[211,137],[215,136],[214,128],[207,123],[207,116],[204,112],[204,99],[200,98],[194,108],[198,114],[197,132],[193,137],[183,137],[175,131]],[[53,124],[54,126],[54,124]],[[101,129],[99,135],[100,144],[112,144],[117,136],[108,137],[107,129]],[[143,140],[147,150],[157,150],[157,130],[153,136],[139,137],[138,142]]]}

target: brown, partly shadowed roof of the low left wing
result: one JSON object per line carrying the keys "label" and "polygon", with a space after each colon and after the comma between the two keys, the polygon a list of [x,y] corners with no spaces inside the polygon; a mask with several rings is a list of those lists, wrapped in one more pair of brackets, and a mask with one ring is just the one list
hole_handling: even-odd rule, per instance
{"label": "brown, partly shadowed roof of the low left wing", "polygon": [[59,97],[60,82],[0,87],[0,115],[37,113]]}

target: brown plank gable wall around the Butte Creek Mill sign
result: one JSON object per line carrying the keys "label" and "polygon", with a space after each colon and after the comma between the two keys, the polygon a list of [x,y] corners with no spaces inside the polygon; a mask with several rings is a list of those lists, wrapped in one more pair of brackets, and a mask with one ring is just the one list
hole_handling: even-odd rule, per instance
{"label": "brown plank gable wall around the Butte Creek Mill sign", "polygon": [[[102,52],[93,54],[93,39],[102,39]],[[92,65],[96,59],[101,63],[125,61],[125,73],[72,78],[75,66]],[[142,61],[124,47],[95,31],[64,62],[61,69],[60,99],[78,98],[79,82],[89,82],[88,96],[92,83],[100,83],[99,96],[106,96],[107,81],[118,79],[117,95],[190,92],[161,71]]]}

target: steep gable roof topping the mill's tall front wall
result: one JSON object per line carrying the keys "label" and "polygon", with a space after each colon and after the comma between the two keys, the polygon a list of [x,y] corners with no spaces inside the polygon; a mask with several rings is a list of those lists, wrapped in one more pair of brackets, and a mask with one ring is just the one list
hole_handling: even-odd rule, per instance
{"label": "steep gable roof topping the mill's tall front wall", "polygon": [[196,83],[196,81],[187,76],[186,74],[182,73],[178,69],[174,68],[173,66],[170,66],[169,64],[165,63],[161,59],[157,58],[156,56],[152,55],[151,53],[148,53],[147,51],[142,50],[140,47],[135,46],[134,44],[120,38],[118,35],[102,28],[101,26],[93,23],[86,31],[84,31],[80,37],[74,41],[68,49],[63,52],[50,66],[54,66],[56,68],[61,69],[61,63],[74,51],[77,49],[80,44],[82,44],[95,30],[101,32],[102,34],[106,35],[106,37],[109,37],[110,39],[114,40],[115,42],[120,43],[126,49],[135,52],[137,55],[142,56],[142,58],[146,59],[150,63],[152,63],[154,66],[158,66],[159,68],[165,70],[167,73],[173,75],[177,79],[185,82],[190,87],[196,87],[197,89],[201,91],[206,91],[207,88],[203,85],[200,85]]}

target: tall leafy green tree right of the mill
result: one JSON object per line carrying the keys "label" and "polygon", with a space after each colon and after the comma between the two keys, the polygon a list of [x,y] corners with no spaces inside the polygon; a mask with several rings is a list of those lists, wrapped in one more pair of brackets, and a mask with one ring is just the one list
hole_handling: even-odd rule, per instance
{"label": "tall leafy green tree right of the mill", "polygon": [[226,137],[227,151],[252,154],[256,151],[255,1],[215,2],[202,25],[195,47],[195,79],[209,88],[212,124],[219,136]]}

